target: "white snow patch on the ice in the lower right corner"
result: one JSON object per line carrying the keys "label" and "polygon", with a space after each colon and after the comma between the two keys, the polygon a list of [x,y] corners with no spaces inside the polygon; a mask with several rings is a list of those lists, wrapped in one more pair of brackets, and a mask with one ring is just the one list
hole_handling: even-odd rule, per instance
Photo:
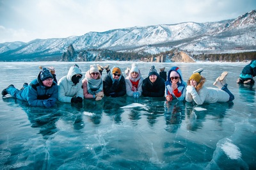
{"label": "white snow patch on the ice in the lower right corner", "polygon": [[221,150],[223,150],[226,155],[231,159],[238,159],[242,155],[239,148],[235,144],[233,144],[230,139],[227,139],[225,143],[221,144]]}

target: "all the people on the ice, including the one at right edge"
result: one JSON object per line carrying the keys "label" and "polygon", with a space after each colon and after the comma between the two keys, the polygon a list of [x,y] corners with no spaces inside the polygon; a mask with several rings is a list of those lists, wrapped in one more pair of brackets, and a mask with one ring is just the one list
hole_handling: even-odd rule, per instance
{"label": "all the people on the ice, including the one at right edge", "polygon": [[[155,66],[151,66],[148,77],[141,77],[140,69],[132,64],[131,69],[125,70],[127,77],[122,74],[118,66],[109,69],[109,65],[90,65],[85,73],[84,79],[78,65],[71,66],[67,75],[58,82],[53,67],[40,67],[42,70],[37,79],[30,84],[24,83],[21,89],[15,88],[13,84],[3,89],[3,97],[12,95],[14,98],[25,100],[31,106],[51,107],[56,101],[67,103],[82,103],[84,98],[101,100],[106,97],[121,97],[124,95],[139,98],[143,97],[165,97],[167,101],[186,100],[198,105],[214,102],[230,102],[234,95],[228,90],[226,78],[228,72],[221,73],[220,77],[213,83],[218,88],[207,88],[204,86],[205,77],[201,75],[204,69],[193,72],[188,81],[185,82],[179,67],[173,66],[167,73],[164,68],[157,73]],[[102,78],[102,71],[107,74]],[[246,65],[237,83],[254,84],[253,77],[256,75],[256,60]]]}

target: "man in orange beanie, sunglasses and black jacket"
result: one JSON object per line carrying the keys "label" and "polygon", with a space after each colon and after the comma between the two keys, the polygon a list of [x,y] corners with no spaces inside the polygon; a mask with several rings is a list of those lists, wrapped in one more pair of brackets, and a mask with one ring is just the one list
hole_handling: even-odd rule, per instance
{"label": "man in orange beanie, sunglasses and black jacket", "polygon": [[103,91],[107,97],[121,97],[126,94],[125,79],[119,67],[113,66],[104,77]]}

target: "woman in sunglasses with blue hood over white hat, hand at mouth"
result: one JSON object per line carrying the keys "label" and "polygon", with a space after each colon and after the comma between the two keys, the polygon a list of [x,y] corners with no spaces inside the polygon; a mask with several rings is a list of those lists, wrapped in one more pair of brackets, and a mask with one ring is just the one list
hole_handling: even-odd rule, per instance
{"label": "woman in sunglasses with blue hood over white hat, hand at mouth", "polygon": [[184,100],[186,95],[186,82],[183,81],[180,68],[173,66],[168,72],[168,79],[165,82],[166,100],[172,101],[175,97],[178,100]]}

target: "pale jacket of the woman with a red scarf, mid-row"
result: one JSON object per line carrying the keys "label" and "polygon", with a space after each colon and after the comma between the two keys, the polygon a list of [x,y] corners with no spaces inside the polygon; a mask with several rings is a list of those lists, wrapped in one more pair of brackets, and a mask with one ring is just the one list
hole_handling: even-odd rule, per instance
{"label": "pale jacket of the woman with a red scarf, mid-row", "polygon": [[[141,77],[141,73],[140,73],[140,70],[139,70],[139,73],[138,73],[138,77],[136,77],[135,79],[133,79],[131,77],[131,72],[129,72],[129,76],[125,78],[125,87],[126,87],[126,94],[129,96],[129,97],[132,97],[133,93],[134,92],[138,92],[141,96],[142,94],[142,82],[143,82],[143,77]],[[136,91],[133,91],[132,90],[132,82],[138,82],[138,88],[136,89]]]}

